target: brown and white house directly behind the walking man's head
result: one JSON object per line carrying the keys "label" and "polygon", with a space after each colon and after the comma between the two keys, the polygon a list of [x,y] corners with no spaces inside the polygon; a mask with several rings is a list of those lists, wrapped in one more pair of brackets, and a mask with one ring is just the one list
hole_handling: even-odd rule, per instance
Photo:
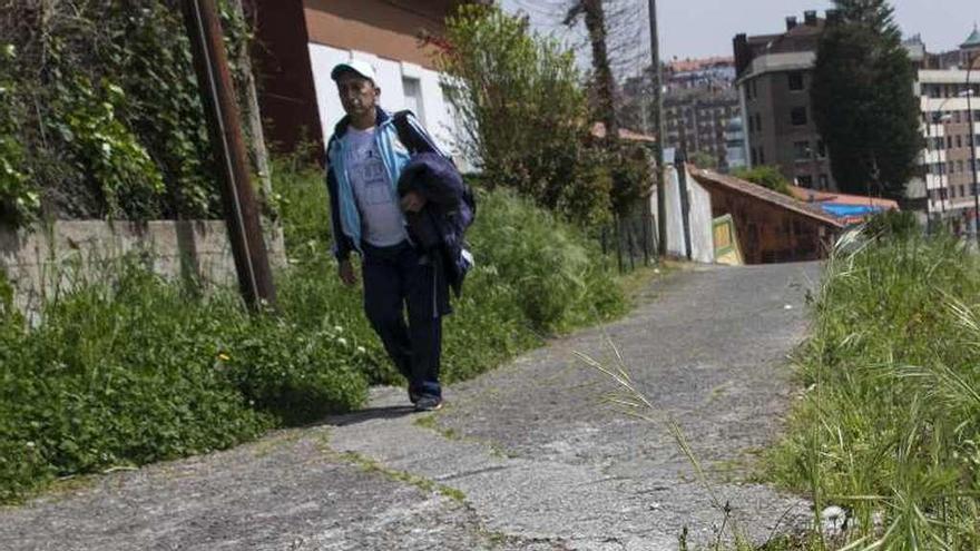
{"label": "brown and white house directly behind the walking man's head", "polygon": [[454,127],[435,70],[444,19],[465,0],[255,0],[259,105],[273,147],[321,148],[344,111],[330,78],[342,61],[374,66],[381,106],[411,109],[447,150]]}

